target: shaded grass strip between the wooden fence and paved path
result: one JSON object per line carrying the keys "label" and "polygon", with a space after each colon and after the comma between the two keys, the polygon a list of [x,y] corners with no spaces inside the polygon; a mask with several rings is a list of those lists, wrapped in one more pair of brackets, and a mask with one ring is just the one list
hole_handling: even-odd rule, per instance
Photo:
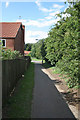
{"label": "shaded grass strip between the wooden fence and paved path", "polygon": [[19,80],[14,94],[6,105],[6,117],[8,118],[31,118],[31,102],[34,87],[34,63],[31,63]]}

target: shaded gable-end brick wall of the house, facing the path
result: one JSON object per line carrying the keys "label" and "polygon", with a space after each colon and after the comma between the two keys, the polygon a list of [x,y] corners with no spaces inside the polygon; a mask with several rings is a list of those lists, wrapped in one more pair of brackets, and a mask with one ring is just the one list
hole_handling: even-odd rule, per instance
{"label": "shaded gable-end brick wall of the house, facing the path", "polygon": [[14,50],[18,50],[24,55],[24,30],[22,30],[21,27],[14,40]]}

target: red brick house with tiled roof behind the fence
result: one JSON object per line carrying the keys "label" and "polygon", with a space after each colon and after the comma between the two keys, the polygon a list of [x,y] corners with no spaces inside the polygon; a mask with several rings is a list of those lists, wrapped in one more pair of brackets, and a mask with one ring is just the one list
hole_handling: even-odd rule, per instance
{"label": "red brick house with tiled roof behind the fence", "polygon": [[25,26],[21,22],[1,22],[0,40],[5,49],[17,50],[24,55]]}

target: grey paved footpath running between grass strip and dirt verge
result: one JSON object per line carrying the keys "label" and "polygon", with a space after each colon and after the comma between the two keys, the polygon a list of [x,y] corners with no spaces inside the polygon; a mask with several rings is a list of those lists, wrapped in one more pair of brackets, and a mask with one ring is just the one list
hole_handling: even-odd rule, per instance
{"label": "grey paved footpath running between grass strip and dirt verge", "polygon": [[32,118],[74,118],[54,82],[43,73],[42,68],[40,63],[35,62]]}

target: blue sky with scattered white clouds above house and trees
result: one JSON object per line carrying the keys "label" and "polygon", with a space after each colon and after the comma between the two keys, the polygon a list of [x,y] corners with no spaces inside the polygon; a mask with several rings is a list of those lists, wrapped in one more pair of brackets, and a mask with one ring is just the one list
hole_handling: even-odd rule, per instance
{"label": "blue sky with scattered white clouds above house and trees", "polygon": [[[46,38],[51,27],[59,21],[56,14],[65,11],[64,2],[2,2],[1,22],[22,22],[25,43],[36,43]],[[38,40],[36,40],[38,39]]]}

